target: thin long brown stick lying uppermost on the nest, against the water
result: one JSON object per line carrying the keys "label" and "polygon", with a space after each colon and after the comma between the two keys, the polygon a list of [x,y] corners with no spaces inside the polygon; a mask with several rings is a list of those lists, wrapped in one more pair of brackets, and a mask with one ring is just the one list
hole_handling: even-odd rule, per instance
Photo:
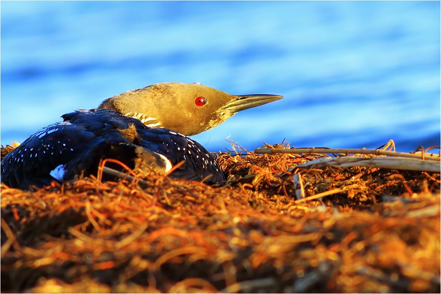
{"label": "thin long brown stick lying uppermost on the nest, against the water", "polygon": [[[272,154],[272,153],[340,153],[340,154],[374,154],[374,155],[388,155],[388,156],[401,156],[411,158],[421,158],[421,154],[395,152],[381,149],[345,149],[345,148],[296,148],[296,149],[283,149],[283,148],[258,148],[254,150],[254,153],[258,154]],[[434,153],[424,153],[425,160],[440,161],[441,157]]]}

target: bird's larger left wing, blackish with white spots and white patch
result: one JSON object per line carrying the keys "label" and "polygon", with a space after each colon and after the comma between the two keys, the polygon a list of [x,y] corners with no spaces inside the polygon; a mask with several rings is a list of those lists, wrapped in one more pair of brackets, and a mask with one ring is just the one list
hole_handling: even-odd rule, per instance
{"label": "bird's larger left wing, blackish with white spots and white patch", "polygon": [[101,158],[130,156],[130,152],[120,155],[118,149],[134,149],[119,129],[137,120],[107,110],[78,110],[62,117],[64,122],[31,135],[3,158],[2,182],[20,188],[47,185],[55,178],[62,181],[82,171],[96,172]]}

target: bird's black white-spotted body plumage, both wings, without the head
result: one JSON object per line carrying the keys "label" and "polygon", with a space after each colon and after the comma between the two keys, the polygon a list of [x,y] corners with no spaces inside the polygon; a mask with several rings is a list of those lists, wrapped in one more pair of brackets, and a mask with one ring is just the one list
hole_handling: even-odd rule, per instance
{"label": "bird's black white-spotted body plumage, both wings, without the head", "polygon": [[[64,122],[43,128],[6,155],[1,161],[3,182],[11,187],[27,188],[47,185],[54,179],[69,180],[83,172],[96,173],[102,158],[115,158],[130,166],[137,156],[135,147],[159,154],[165,172],[184,161],[171,173],[172,177],[208,178],[212,183],[225,180],[207,150],[178,132],[149,128],[136,119],[106,109],[79,110],[63,118]],[[135,137],[123,132],[130,125],[136,129]]]}

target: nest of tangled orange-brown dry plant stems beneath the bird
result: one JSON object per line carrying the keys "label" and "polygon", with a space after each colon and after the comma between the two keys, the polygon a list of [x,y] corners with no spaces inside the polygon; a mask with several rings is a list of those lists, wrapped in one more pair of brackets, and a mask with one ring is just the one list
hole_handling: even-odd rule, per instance
{"label": "nest of tangled orange-brown dry plant stems beneath the bird", "polygon": [[305,196],[339,192],[299,201],[295,167],[322,156],[221,153],[223,187],[2,186],[1,292],[439,293],[440,174],[303,169]]}

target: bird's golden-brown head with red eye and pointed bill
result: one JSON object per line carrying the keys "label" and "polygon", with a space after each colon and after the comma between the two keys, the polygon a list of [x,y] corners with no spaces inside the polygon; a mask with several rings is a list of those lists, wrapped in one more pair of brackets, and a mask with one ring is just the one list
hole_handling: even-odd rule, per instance
{"label": "bird's golden-brown head with red eye and pointed bill", "polygon": [[236,112],[283,98],[278,95],[230,95],[201,85],[159,83],[129,91],[101,103],[152,127],[195,135],[224,122]]}

